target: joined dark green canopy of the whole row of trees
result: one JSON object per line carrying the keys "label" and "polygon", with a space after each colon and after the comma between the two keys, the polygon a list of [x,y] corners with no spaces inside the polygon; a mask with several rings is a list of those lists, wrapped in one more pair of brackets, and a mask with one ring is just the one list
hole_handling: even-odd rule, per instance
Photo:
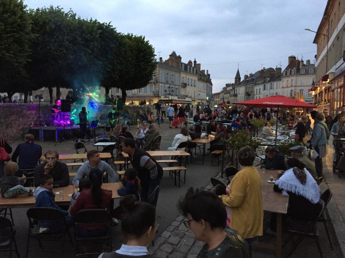
{"label": "joined dark green canopy of the whole row of trees", "polygon": [[[122,34],[111,23],[82,19],[72,10],[26,10],[22,1],[0,3],[0,92],[48,87],[82,90],[93,82],[106,89],[144,87],[156,67],[154,48],[145,36]],[[11,96],[12,96],[11,95]],[[10,94],[9,94],[10,96]]]}

